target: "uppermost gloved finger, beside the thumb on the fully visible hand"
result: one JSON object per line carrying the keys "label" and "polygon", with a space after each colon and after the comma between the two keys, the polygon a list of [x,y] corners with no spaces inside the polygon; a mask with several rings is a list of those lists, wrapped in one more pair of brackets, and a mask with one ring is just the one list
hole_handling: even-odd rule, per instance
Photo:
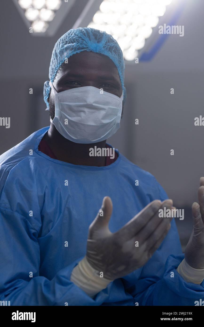
{"label": "uppermost gloved finger, beside the thumb on the fully visible hand", "polygon": [[118,231],[119,234],[126,234],[130,239],[137,232],[139,232],[151,219],[152,216],[158,212],[161,206],[160,200],[154,200],[149,203],[143,210],[134,216],[128,223]]}

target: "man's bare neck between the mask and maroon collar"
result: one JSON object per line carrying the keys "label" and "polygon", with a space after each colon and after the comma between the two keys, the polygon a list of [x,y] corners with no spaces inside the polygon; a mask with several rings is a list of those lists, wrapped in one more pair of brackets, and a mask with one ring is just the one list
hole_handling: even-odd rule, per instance
{"label": "man's bare neck between the mask and maroon collar", "polygon": [[60,161],[85,166],[101,167],[106,165],[106,157],[90,157],[89,155],[91,147],[105,148],[106,140],[90,144],[74,143],[65,139],[52,123],[43,139]]}

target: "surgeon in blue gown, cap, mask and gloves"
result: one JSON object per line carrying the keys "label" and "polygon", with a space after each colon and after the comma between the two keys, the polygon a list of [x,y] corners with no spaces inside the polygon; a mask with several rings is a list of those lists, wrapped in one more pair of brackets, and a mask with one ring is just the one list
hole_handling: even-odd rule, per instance
{"label": "surgeon in blue gown, cap, mask and gloves", "polygon": [[174,219],[159,215],[175,209],[172,200],[150,173],[118,150],[110,155],[106,140],[125,99],[123,54],[111,35],[77,28],[57,41],[44,84],[51,124],[0,157],[1,301],[204,300],[204,178],[182,254]]}

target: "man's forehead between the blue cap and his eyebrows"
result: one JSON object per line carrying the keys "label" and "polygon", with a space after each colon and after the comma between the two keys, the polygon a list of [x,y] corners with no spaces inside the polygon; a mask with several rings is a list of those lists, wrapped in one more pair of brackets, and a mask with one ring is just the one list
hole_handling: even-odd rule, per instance
{"label": "man's forehead between the blue cap and his eyebrows", "polygon": [[56,74],[57,79],[65,75],[91,74],[104,77],[112,76],[120,81],[117,67],[108,56],[92,51],[82,51],[72,55],[67,61],[59,67]]}

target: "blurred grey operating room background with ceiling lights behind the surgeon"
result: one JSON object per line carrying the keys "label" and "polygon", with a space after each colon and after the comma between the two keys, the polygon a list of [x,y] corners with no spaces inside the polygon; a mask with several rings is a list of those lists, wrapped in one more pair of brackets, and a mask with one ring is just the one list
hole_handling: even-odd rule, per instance
{"label": "blurred grey operating room background with ceiling lights behind the surgeon", "polygon": [[[0,126],[0,154],[49,125],[43,84],[59,37],[76,27],[106,30],[124,52],[127,89],[121,128],[108,143],[184,209],[184,220],[176,218],[184,250],[204,176],[204,127],[194,125],[204,116],[203,14],[203,0],[2,1],[0,116],[10,117],[10,128]],[[184,26],[184,35],[159,34],[164,24]]]}

